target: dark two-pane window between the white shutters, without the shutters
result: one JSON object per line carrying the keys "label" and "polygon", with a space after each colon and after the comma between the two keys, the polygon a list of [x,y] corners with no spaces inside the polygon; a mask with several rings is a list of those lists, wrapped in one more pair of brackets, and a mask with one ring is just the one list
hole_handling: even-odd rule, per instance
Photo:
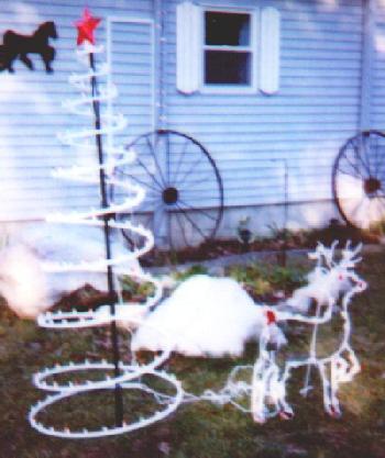
{"label": "dark two-pane window between the white shutters, without the shutters", "polygon": [[204,12],[204,85],[253,87],[253,16]]}

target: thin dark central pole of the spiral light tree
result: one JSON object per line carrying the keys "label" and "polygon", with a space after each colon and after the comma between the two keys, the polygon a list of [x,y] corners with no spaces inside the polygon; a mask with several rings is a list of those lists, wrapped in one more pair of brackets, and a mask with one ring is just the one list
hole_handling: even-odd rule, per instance
{"label": "thin dark central pole of the spiral light tree", "polygon": [[[89,65],[92,71],[96,70],[94,53],[89,54]],[[91,76],[91,91],[92,91],[92,110],[95,115],[95,129],[97,130],[96,134],[96,145],[98,149],[98,160],[99,165],[103,164],[103,148],[102,148],[102,138],[100,134],[101,129],[101,118],[100,118],[100,103],[98,100],[99,90],[98,81],[95,75]],[[100,199],[102,209],[108,209],[109,202],[107,197],[107,187],[106,187],[106,174],[102,167],[99,169],[99,186],[100,186]],[[111,253],[111,239],[110,239],[110,225],[109,221],[113,219],[112,214],[103,215],[103,232],[105,232],[105,245],[106,245],[106,257],[107,260],[112,259]],[[113,286],[113,271],[112,266],[108,265],[107,267],[107,284],[109,293],[109,305],[111,315],[116,314],[116,290]],[[118,329],[117,322],[111,321],[111,344],[112,344],[112,354],[113,354],[113,366],[114,366],[114,376],[120,376],[119,362],[120,362],[120,353],[119,353],[119,343],[118,343]],[[123,424],[123,398],[122,398],[122,388],[120,384],[116,384],[114,388],[114,406],[116,406],[116,424],[117,426],[122,426]]]}

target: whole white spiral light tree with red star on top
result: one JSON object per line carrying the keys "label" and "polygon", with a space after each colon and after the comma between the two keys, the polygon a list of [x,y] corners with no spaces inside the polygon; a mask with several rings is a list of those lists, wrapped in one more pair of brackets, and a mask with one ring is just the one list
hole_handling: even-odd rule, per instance
{"label": "whole white spiral light tree with red star on top", "polygon": [[[133,225],[129,220],[120,220],[119,222],[114,220],[114,214],[120,212],[127,214],[142,202],[144,191],[141,187],[127,180],[121,182],[112,178],[112,171],[117,165],[131,164],[134,160],[134,153],[125,152],[122,148],[103,148],[103,137],[124,127],[125,121],[122,116],[107,114],[101,111],[101,104],[114,97],[116,93],[106,82],[99,81],[105,81],[103,78],[109,72],[109,68],[106,65],[98,66],[96,62],[96,55],[102,53],[102,47],[96,46],[94,38],[95,29],[99,22],[100,19],[94,18],[86,9],[81,21],[76,23],[78,30],[77,45],[79,46],[77,53],[79,60],[87,66],[87,71],[70,77],[69,82],[80,91],[81,96],[66,103],[72,113],[88,116],[88,119],[92,120],[94,125],[88,130],[66,132],[61,135],[61,139],[65,144],[80,148],[85,154],[89,150],[96,150],[98,164],[95,167],[75,166],[69,169],[59,169],[56,170],[55,175],[61,178],[99,183],[100,208],[79,213],[51,215],[48,220],[52,222],[101,227],[105,234],[106,258],[76,265],[65,262],[46,264],[44,268],[51,272],[73,272],[73,275],[80,271],[105,272],[110,299],[107,305],[102,305],[95,311],[46,312],[38,316],[37,323],[43,327],[53,329],[86,328],[109,324],[111,327],[113,361],[85,360],[80,364],[70,361],[67,365],[56,365],[53,368],[46,368],[34,375],[34,384],[53,394],[50,394],[45,400],[37,402],[37,404],[31,407],[29,413],[30,423],[41,433],[64,438],[102,437],[141,428],[174,412],[183,399],[180,383],[175,377],[157,370],[157,367],[169,355],[167,349],[155,356],[151,362],[144,365],[139,365],[136,361],[127,365],[120,360],[117,321],[124,321],[125,324],[131,323],[133,326],[140,325],[141,319],[146,311],[160,300],[162,288],[152,276],[142,271],[138,262],[134,262],[152,248],[154,239],[151,231],[140,225]],[[127,196],[122,202],[116,204],[109,202],[107,190],[111,185],[121,188],[124,196]],[[144,242],[140,247],[128,252],[127,255],[114,257],[111,249],[111,233],[120,230],[130,231],[139,235]],[[127,304],[122,299],[116,302],[116,297],[121,298],[119,281],[114,270],[118,266],[124,266],[127,275],[140,281],[153,283],[154,293],[147,298],[145,303]],[[61,380],[61,377],[63,379],[63,375],[79,376],[80,373],[85,375],[87,371],[98,373],[105,371],[105,376],[97,381],[56,381]],[[106,376],[106,373],[111,371],[113,372],[112,377]],[[169,394],[169,389],[167,390],[167,395],[165,395],[163,392],[151,388],[143,381],[145,379],[143,376],[152,376],[165,384],[169,384],[174,394]],[[52,404],[81,393],[92,393],[97,390],[113,391],[114,425],[100,426],[94,429],[84,427],[81,429],[72,429],[67,426],[64,428],[47,426],[38,420],[40,415],[43,415],[43,411],[46,411]],[[162,404],[162,410],[150,413],[146,417],[127,423],[124,421],[123,390],[139,390],[153,396],[157,404]]]}

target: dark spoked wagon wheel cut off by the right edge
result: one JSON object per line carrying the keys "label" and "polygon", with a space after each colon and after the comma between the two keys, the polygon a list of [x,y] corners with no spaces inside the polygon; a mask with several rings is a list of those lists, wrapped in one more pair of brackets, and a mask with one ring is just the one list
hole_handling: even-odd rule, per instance
{"label": "dark spoked wagon wheel cut off by the right edge", "polygon": [[334,202],[358,228],[385,223],[385,134],[364,131],[341,147],[332,171]]}

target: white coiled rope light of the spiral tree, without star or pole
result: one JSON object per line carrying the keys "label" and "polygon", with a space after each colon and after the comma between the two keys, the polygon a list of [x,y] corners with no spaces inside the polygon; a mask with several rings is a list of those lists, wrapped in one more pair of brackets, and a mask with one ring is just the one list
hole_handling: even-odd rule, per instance
{"label": "white coiled rope light of the spiral tree, without star or pole", "polygon": [[[79,58],[86,64],[89,62],[90,54],[101,53],[101,47],[91,46],[87,44],[81,51],[78,52]],[[66,108],[75,115],[91,116],[92,104],[95,102],[106,102],[117,94],[116,90],[107,90],[107,88],[101,87],[100,91],[95,93],[90,91],[90,81],[92,78],[102,78],[108,75],[109,68],[103,65],[100,68],[91,68],[84,75],[74,75],[70,77],[69,82],[74,85],[77,89],[81,91],[79,99],[69,101],[65,103]],[[125,120],[122,116],[109,115],[103,113],[106,121],[106,126],[100,129],[89,129],[78,132],[65,132],[59,135],[62,142],[69,146],[79,148],[80,150],[95,149],[91,139],[96,136],[111,134],[120,131],[125,126]],[[106,176],[106,183],[113,185],[122,189],[125,194],[129,197],[124,199],[122,203],[119,204],[109,204],[107,208],[99,208],[88,210],[86,212],[74,212],[70,214],[54,214],[51,215],[47,220],[51,222],[61,222],[68,224],[85,224],[85,225],[96,225],[103,226],[106,215],[111,213],[128,213],[132,211],[134,206],[140,204],[144,197],[144,190],[130,181],[120,181],[113,179],[111,174],[114,167],[119,164],[132,164],[135,159],[135,154],[133,150],[125,152],[122,156],[122,148],[109,148],[107,160],[99,166],[95,167],[82,167],[74,166],[68,169],[58,169],[55,172],[55,176],[58,178],[66,178],[70,180],[81,180],[86,182],[99,182],[99,172],[102,170]],[[133,234],[136,234],[143,238],[143,244],[141,247],[135,247],[133,250],[128,252],[124,256],[111,257],[97,259],[92,262],[82,261],[78,264],[69,262],[46,262],[44,269],[48,272],[78,272],[78,271],[98,271],[103,272],[107,268],[112,268],[119,265],[124,266],[125,273],[135,278],[139,281],[151,282],[154,287],[154,293],[142,303],[118,303],[114,305],[114,313],[111,313],[111,308],[109,305],[103,305],[98,308],[96,311],[79,312],[73,310],[70,312],[46,312],[41,314],[37,317],[37,323],[42,327],[52,328],[52,329],[74,329],[74,328],[86,328],[90,326],[100,326],[106,325],[111,322],[121,321],[125,324],[129,323],[130,326],[135,327],[140,324],[143,324],[141,319],[145,313],[158,302],[162,298],[162,284],[160,281],[154,279],[151,275],[145,273],[142,269],[138,267],[131,267],[130,261],[138,259],[154,245],[154,237],[151,231],[141,226],[134,225],[130,221],[109,221],[108,225],[113,230],[127,230]],[[125,267],[128,266],[128,267]],[[135,265],[136,266],[136,265]],[[117,283],[117,281],[116,281]],[[48,381],[55,379],[55,377],[61,375],[72,375],[87,371],[111,371],[116,366],[107,361],[88,361],[84,362],[68,362],[67,365],[56,365],[53,368],[46,368],[41,372],[37,372],[33,377],[33,382],[36,388],[48,391],[53,394],[50,394],[45,400],[37,402],[33,405],[29,413],[29,421],[31,425],[43,434],[50,436],[63,437],[63,438],[92,438],[92,437],[103,437],[111,436],[116,434],[128,433],[144,426],[148,426],[160,420],[165,418],[172,412],[174,412],[177,406],[180,404],[184,391],[182,389],[180,382],[176,380],[173,375],[168,375],[164,371],[160,371],[157,368],[169,357],[169,350],[164,350],[160,355],[155,356],[152,361],[145,365],[132,364],[124,365],[119,362],[119,375],[113,377],[106,376],[101,380],[87,380],[85,382],[67,382],[58,383],[56,381]],[[174,391],[174,394],[164,394],[158,392],[146,383],[141,381],[142,376],[153,376],[160,380],[163,380]],[[157,412],[147,414],[144,418],[139,418],[131,423],[117,424],[112,427],[101,426],[98,429],[87,429],[81,431],[72,431],[69,428],[55,428],[53,426],[46,426],[37,420],[38,414],[47,410],[50,406],[55,404],[58,401],[78,395],[80,393],[90,393],[96,390],[114,390],[119,386],[123,390],[141,390],[145,393],[148,393],[154,396],[158,404],[162,404],[162,409]]]}

